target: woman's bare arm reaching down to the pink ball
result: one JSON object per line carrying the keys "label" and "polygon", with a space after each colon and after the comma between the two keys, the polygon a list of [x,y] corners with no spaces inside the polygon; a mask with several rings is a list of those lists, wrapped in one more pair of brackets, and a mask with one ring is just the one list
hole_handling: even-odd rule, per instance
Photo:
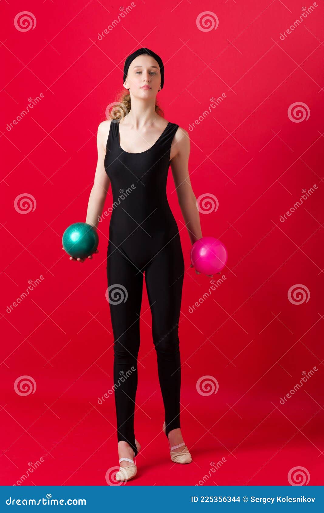
{"label": "woman's bare arm reaching down to the pink ball", "polygon": [[178,201],[189,238],[192,244],[202,238],[199,211],[188,171],[190,140],[186,130],[180,128],[175,135],[173,147],[177,151],[170,166],[176,186]]}

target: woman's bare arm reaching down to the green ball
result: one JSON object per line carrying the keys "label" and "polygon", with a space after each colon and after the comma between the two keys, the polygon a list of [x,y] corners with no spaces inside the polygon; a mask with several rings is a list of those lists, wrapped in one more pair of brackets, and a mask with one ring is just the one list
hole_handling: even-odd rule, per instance
{"label": "woman's bare arm reaching down to the green ball", "polygon": [[102,214],[110,180],[105,171],[104,160],[110,121],[100,123],[97,132],[98,162],[94,182],[89,196],[86,223],[97,229]]}

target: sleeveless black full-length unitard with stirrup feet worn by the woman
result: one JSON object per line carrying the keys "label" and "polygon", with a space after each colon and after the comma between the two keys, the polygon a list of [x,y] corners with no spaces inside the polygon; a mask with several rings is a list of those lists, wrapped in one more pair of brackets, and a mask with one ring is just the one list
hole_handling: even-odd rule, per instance
{"label": "sleeveless black full-length unitard with stirrup feet worn by the woman", "polygon": [[[143,273],[165,410],[166,436],[180,427],[178,324],[184,260],[177,223],[166,196],[170,148],[179,125],[168,123],[140,153],[124,151],[119,122],[110,122],[105,170],[113,197],[107,248],[108,301],[114,336],[114,385],[118,441],[137,455],[134,407]],[[134,369],[134,370],[132,370]],[[127,376],[121,382],[121,377]]]}

